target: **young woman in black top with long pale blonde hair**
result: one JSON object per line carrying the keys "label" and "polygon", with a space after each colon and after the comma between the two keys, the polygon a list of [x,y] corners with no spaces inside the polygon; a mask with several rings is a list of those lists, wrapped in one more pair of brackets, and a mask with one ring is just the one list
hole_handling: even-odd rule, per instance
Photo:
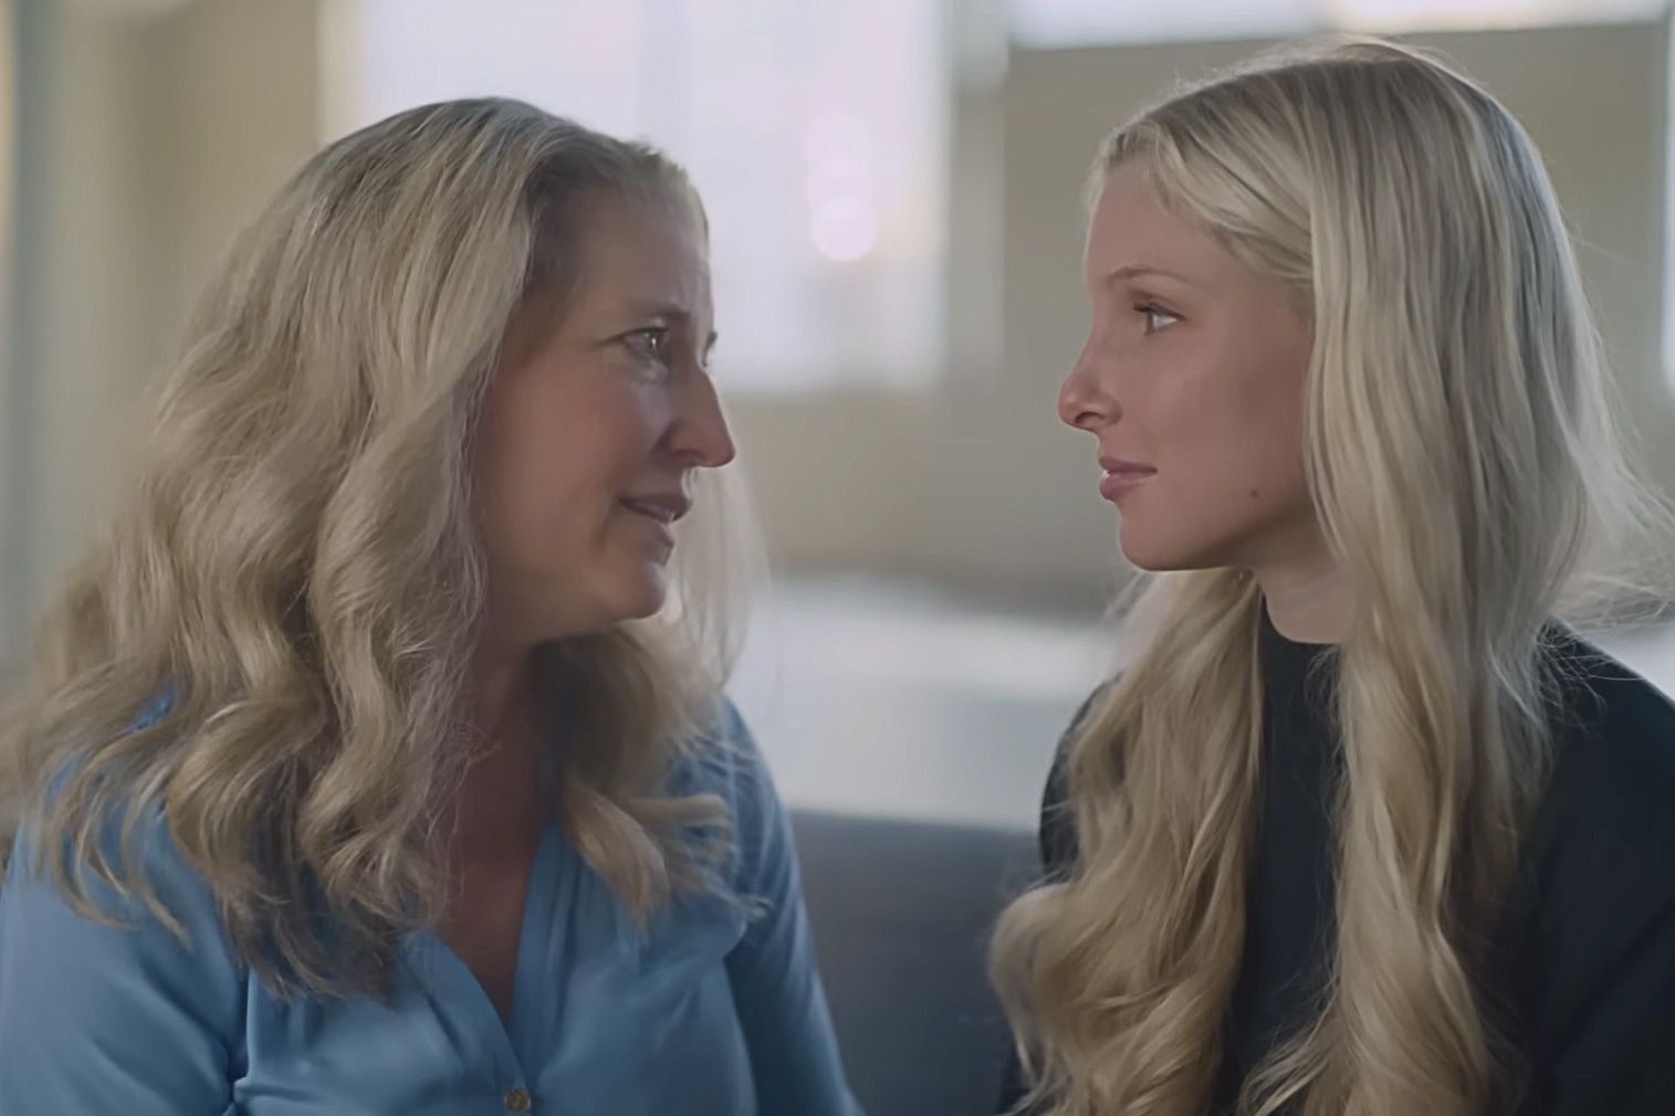
{"label": "young woman in black top with long pale blonde hair", "polygon": [[1554,619],[1663,520],[1523,129],[1263,59],[1109,139],[1085,283],[1060,415],[1159,576],[995,942],[1032,1109],[1675,1111],[1675,708]]}

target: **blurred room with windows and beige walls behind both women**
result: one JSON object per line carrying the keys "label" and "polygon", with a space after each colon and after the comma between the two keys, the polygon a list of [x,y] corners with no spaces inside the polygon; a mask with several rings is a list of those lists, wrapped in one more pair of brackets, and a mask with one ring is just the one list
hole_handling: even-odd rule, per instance
{"label": "blurred room with windows and beige walls behind both women", "polygon": [[[737,698],[801,808],[1032,825],[1124,569],[1054,398],[1080,189],[1176,77],[1325,28],[1447,50],[1524,120],[1675,492],[1670,13],[1650,0],[8,0],[0,651],[109,510],[137,395],[281,177],[511,94],[687,162],[776,559]],[[1665,629],[1608,641],[1675,688]]]}

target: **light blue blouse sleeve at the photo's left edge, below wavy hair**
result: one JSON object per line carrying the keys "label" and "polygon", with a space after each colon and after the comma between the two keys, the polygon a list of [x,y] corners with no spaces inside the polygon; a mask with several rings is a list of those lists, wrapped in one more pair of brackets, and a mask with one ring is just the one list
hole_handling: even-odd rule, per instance
{"label": "light blue blouse sleeve at the photo's left edge, below wavy hair", "polygon": [[[164,811],[137,803],[129,820],[126,805],[117,796],[80,847],[35,817],[12,848],[0,883],[3,1111],[219,1113],[229,1103],[248,972]],[[124,887],[90,870],[89,850]],[[80,902],[54,878],[54,860]]]}

